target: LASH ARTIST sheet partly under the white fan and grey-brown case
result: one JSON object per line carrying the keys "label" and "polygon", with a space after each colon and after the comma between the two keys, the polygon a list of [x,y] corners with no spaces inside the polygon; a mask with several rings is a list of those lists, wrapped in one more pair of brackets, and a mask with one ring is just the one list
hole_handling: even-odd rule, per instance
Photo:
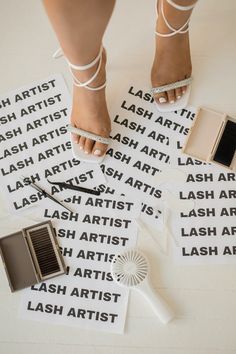
{"label": "LASH ARTIST sheet partly under the white fan and grey-brown case", "polygon": [[140,205],[84,193],[72,204],[77,213],[42,210],[56,228],[67,273],[24,290],[20,317],[121,333],[129,291],[113,281],[110,267],[115,254],[136,245]]}

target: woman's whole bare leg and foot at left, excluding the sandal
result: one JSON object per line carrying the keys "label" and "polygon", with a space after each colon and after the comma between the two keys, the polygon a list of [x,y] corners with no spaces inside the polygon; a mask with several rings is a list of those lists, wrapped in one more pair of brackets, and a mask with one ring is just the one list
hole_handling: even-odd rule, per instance
{"label": "woman's whole bare leg and foot at left, excluding the sandal", "polygon": [[[61,48],[68,60],[75,65],[90,63],[99,52],[103,34],[111,17],[115,0],[43,0],[46,12],[56,32]],[[88,80],[96,71],[73,71],[80,81]],[[103,51],[102,66],[92,87],[104,83],[106,55]],[[74,86],[71,123],[83,130],[109,137],[111,123],[106,105],[105,89],[87,90]],[[73,135],[86,153],[103,155],[107,146]]]}

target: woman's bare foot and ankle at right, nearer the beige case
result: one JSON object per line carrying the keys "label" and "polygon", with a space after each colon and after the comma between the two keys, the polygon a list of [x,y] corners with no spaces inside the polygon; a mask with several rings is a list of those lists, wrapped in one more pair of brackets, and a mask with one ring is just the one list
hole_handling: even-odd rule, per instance
{"label": "woman's bare foot and ankle at right, nearer the beige case", "polygon": [[[170,33],[161,14],[161,1],[168,22],[174,28],[180,28],[189,18],[191,11],[179,11],[170,6],[165,0],[158,1],[158,21],[156,31]],[[178,0],[175,0],[177,2]],[[180,0],[178,1],[179,4]],[[186,1],[185,1],[186,3]],[[182,5],[185,5],[182,1]],[[186,29],[186,28],[185,28]],[[192,65],[188,32],[175,34],[170,37],[156,36],[156,51],[151,71],[153,87],[158,87],[180,81],[191,76]],[[186,91],[186,86],[155,94],[158,103],[174,103]]]}

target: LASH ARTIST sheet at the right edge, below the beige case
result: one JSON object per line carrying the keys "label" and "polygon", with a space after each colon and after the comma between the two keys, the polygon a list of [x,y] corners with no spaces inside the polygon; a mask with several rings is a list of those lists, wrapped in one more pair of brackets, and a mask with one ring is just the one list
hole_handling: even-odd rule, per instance
{"label": "LASH ARTIST sheet at the right edge, below the beige case", "polygon": [[[193,111],[196,111],[193,109]],[[184,122],[186,129],[190,121]],[[172,254],[184,264],[235,263],[236,174],[181,152],[186,137],[173,141],[173,167],[185,181],[172,189],[179,211],[172,212]],[[193,208],[185,210],[184,202]]]}

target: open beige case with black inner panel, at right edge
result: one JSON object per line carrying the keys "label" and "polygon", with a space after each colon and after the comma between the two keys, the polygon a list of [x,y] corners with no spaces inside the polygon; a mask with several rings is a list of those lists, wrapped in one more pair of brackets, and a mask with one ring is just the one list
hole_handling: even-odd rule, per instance
{"label": "open beige case with black inner panel, at right edge", "polygon": [[200,107],[182,152],[236,171],[236,119]]}

